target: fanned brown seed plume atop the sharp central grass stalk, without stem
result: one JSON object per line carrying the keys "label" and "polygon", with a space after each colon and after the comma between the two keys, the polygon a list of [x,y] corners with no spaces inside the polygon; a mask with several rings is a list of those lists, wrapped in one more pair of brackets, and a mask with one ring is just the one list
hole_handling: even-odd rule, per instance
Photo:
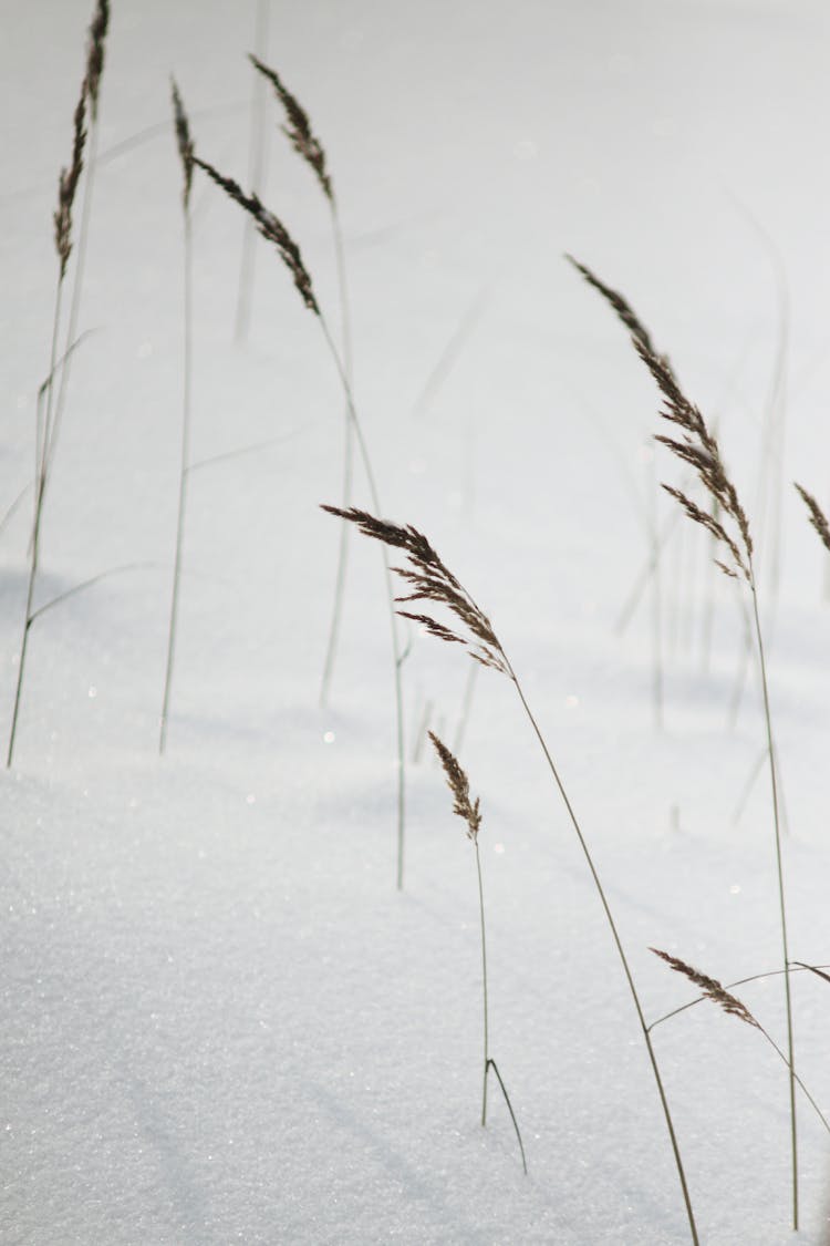
{"label": "fanned brown seed plume atop the sharp central grass stalk, without stem", "polygon": [[494,670],[500,670],[503,675],[513,678],[504,649],[487,614],[444,566],[422,532],[411,525],[401,527],[388,520],[377,520],[373,515],[360,511],[356,506],[351,506],[348,510],[324,506],[322,510],[327,511],[329,515],[336,515],[341,520],[356,523],[365,536],[406,552],[409,567],[393,567],[392,569],[407,581],[413,592],[396,597],[396,602],[426,601],[445,606],[470,634],[459,635],[429,614],[413,614],[408,611],[398,611],[398,614],[423,624],[431,635],[438,637],[439,640],[463,644],[470,658],[480,662],[483,667],[492,667]]}

